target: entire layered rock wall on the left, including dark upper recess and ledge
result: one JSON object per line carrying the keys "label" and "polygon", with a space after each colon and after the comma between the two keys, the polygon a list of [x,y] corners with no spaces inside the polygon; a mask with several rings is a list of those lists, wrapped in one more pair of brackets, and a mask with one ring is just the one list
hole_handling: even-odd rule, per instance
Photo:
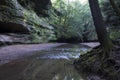
{"label": "entire layered rock wall on the left, including dark upper recess and ledge", "polygon": [[1,43],[54,40],[54,28],[44,18],[50,7],[50,0],[0,0]]}

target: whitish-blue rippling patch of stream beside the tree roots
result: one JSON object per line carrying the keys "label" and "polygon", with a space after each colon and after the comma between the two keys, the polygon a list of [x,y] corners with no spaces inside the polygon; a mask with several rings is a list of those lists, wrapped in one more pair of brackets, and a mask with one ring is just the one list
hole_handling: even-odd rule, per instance
{"label": "whitish-blue rippling patch of stream beside the tree roots", "polygon": [[85,54],[89,49],[82,48],[53,48],[43,52],[45,54],[37,56],[36,59],[77,59],[80,54]]}

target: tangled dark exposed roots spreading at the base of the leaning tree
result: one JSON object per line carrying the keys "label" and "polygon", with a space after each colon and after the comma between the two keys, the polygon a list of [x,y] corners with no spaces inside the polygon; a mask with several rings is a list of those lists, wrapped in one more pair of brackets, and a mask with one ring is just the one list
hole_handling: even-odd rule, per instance
{"label": "tangled dark exposed roots spreading at the base of the leaning tree", "polygon": [[79,71],[93,72],[106,80],[120,80],[120,47],[114,47],[109,56],[100,48],[94,48],[75,60],[75,68]]}

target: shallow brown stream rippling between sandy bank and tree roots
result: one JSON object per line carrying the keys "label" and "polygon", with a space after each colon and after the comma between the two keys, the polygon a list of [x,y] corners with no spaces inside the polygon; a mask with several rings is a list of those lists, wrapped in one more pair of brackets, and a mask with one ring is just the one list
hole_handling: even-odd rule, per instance
{"label": "shallow brown stream rippling between sandy bank and tree roots", "polygon": [[91,48],[64,44],[0,66],[0,80],[86,80],[73,61]]}

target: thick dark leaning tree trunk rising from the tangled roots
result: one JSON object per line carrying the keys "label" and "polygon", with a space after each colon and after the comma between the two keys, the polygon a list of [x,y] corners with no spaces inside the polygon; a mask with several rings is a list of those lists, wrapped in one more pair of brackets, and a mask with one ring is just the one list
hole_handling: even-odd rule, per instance
{"label": "thick dark leaning tree trunk rising from the tangled roots", "polygon": [[108,55],[112,48],[112,42],[107,34],[98,0],[89,0],[89,5],[101,48]]}

